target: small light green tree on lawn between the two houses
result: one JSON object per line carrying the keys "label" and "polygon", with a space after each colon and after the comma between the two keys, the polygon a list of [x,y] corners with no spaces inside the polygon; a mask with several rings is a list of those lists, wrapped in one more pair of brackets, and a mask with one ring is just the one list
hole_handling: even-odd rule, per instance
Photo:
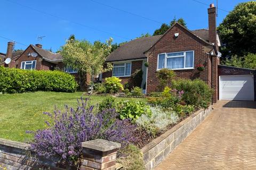
{"label": "small light green tree on lawn between the two houses", "polygon": [[81,90],[85,85],[86,73],[93,76],[112,69],[112,65],[107,64],[107,69],[103,67],[107,56],[110,54],[112,38],[106,43],[95,41],[91,44],[86,40],[69,39],[67,43],[61,47],[63,63],[77,69],[79,75],[79,84]]}

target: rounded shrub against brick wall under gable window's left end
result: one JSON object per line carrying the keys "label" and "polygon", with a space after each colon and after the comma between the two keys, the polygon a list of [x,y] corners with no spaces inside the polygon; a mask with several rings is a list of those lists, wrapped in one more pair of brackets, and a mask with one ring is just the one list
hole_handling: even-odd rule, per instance
{"label": "rounded shrub against brick wall under gable window's left end", "polygon": [[175,77],[175,73],[170,69],[161,69],[156,73],[157,78],[159,79],[160,85],[159,90],[162,91],[164,87],[171,82]]}

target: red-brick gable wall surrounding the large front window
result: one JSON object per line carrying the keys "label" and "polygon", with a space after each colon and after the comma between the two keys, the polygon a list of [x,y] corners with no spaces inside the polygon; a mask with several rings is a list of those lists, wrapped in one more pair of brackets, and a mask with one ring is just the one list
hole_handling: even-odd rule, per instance
{"label": "red-brick gable wall surrounding the large front window", "polygon": [[[179,37],[175,38],[174,33],[179,33]],[[157,91],[159,81],[156,77],[157,57],[161,53],[182,52],[187,50],[194,50],[194,67],[197,64],[204,64],[205,70],[199,72],[196,68],[190,70],[175,70],[177,77],[185,79],[200,78],[207,84],[210,82],[209,70],[210,59],[209,55],[212,47],[204,43],[202,40],[193,36],[189,31],[176,24],[167,32],[162,39],[160,39],[147,53],[148,56],[148,78],[147,78],[147,93]]]}

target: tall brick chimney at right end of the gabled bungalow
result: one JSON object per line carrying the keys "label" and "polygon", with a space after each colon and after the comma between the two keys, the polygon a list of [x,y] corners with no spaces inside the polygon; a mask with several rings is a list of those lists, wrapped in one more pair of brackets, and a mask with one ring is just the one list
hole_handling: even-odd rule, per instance
{"label": "tall brick chimney at right end of the gabled bungalow", "polygon": [[211,4],[210,8],[208,8],[208,21],[209,21],[209,41],[210,43],[218,47],[217,40],[216,40],[217,38],[216,7],[214,7],[214,4]]}

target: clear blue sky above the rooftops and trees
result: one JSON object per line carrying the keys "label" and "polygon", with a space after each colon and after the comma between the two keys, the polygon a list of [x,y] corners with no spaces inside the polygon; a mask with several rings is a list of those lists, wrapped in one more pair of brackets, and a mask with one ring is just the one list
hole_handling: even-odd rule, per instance
{"label": "clear blue sky above the rooftops and trees", "polygon": [[[204,4],[216,2],[215,0],[198,1]],[[219,8],[231,11],[241,2],[247,1],[219,0]],[[169,23],[174,16],[177,19],[183,18],[190,30],[207,28],[208,6],[204,4],[193,0],[0,0],[0,52],[6,53],[7,42],[10,41],[1,36],[24,45],[39,43],[43,48],[52,48],[55,52],[65,44],[65,40],[71,34],[77,39],[92,42],[106,41],[112,37],[114,43],[120,43],[134,39],[141,33],[153,34],[161,23]],[[217,24],[221,23],[228,14],[225,11],[219,10]],[[38,41],[38,36],[46,37]],[[26,48],[18,43],[15,44],[15,49]]]}

